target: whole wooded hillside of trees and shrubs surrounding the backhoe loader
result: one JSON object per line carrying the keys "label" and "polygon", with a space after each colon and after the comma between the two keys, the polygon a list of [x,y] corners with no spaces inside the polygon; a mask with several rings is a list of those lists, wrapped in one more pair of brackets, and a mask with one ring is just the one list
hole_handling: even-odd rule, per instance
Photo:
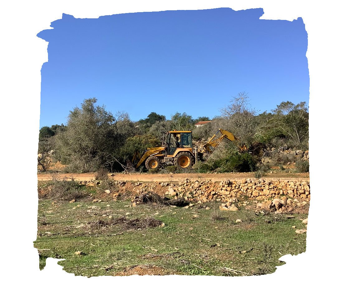
{"label": "whole wooded hillside of trees and shrubs surrounding the backhoe loader", "polygon": [[[201,121],[209,123],[195,127]],[[96,98],[85,99],[69,112],[66,125],[39,130],[38,170],[46,171],[50,162],[59,161],[66,165],[66,172],[95,172],[101,168],[124,171],[136,150],[142,153],[147,147],[161,146],[167,131],[192,131],[193,145],[200,145],[219,128],[232,132],[238,144],[246,145],[249,152],[241,153],[237,144],[224,142],[207,161],[194,164],[194,170],[263,172],[270,165],[292,162],[309,171],[309,162],[297,154],[309,149],[306,103],[281,102],[271,113],[260,113],[251,107],[245,92],[233,97],[212,119],[204,114],[193,118],[185,112],[176,112],[166,119],[151,112],[147,118],[134,122],[126,112],[112,114],[105,106],[99,106]]]}

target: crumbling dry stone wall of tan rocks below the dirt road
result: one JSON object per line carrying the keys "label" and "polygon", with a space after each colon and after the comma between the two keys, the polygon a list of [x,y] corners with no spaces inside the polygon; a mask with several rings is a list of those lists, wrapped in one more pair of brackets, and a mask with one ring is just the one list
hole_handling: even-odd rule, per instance
{"label": "crumbling dry stone wall of tan rocks below the dirt road", "polygon": [[[84,182],[89,185],[90,182]],[[297,206],[310,202],[310,184],[300,180],[241,179],[222,180],[221,182],[185,179],[181,182],[125,182],[116,181],[117,194],[131,191],[133,194],[144,192],[171,196],[175,200],[205,203],[217,201],[220,210],[237,210],[253,203],[261,210],[292,211]],[[118,196],[113,196],[117,199]]]}

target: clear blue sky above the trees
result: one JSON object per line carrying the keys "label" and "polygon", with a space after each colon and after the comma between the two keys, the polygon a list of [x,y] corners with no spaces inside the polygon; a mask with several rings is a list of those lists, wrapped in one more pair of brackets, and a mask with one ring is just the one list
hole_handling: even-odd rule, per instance
{"label": "clear blue sky above the trees", "polygon": [[96,97],[132,120],[153,111],[170,119],[220,115],[245,91],[261,112],[282,101],[309,102],[307,32],[301,18],[260,20],[263,9],[63,14],[42,67],[40,127],[66,123],[69,110]]}

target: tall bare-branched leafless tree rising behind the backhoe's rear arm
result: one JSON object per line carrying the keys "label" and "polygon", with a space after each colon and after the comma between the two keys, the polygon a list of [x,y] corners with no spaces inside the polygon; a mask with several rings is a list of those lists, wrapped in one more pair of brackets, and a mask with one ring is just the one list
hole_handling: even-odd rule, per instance
{"label": "tall bare-branched leafless tree rising behind the backhoe's rear arm", "polygon": [[239,92],[231,104],[221,109],[221,113],[228,119],[228,129],[244,145],[251,145],[257,130],[255,119],[258,111],[251,108],[246,92]]}

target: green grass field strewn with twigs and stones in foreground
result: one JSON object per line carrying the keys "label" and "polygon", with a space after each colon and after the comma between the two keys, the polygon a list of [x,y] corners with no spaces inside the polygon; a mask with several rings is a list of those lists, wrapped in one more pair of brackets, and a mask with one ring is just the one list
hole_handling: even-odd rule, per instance
{"label": "green grass field strewn with twigs and stones in foreground", "polygon": [[305,228],[307,215],[220,211],[219,202],[130,205],[131,199],[39,200],[40,269],[54,257],[65,259],[65,271],[88,277],[262,275],[282,265],[282,255],[305,252],[306,233],[295,230]]}

